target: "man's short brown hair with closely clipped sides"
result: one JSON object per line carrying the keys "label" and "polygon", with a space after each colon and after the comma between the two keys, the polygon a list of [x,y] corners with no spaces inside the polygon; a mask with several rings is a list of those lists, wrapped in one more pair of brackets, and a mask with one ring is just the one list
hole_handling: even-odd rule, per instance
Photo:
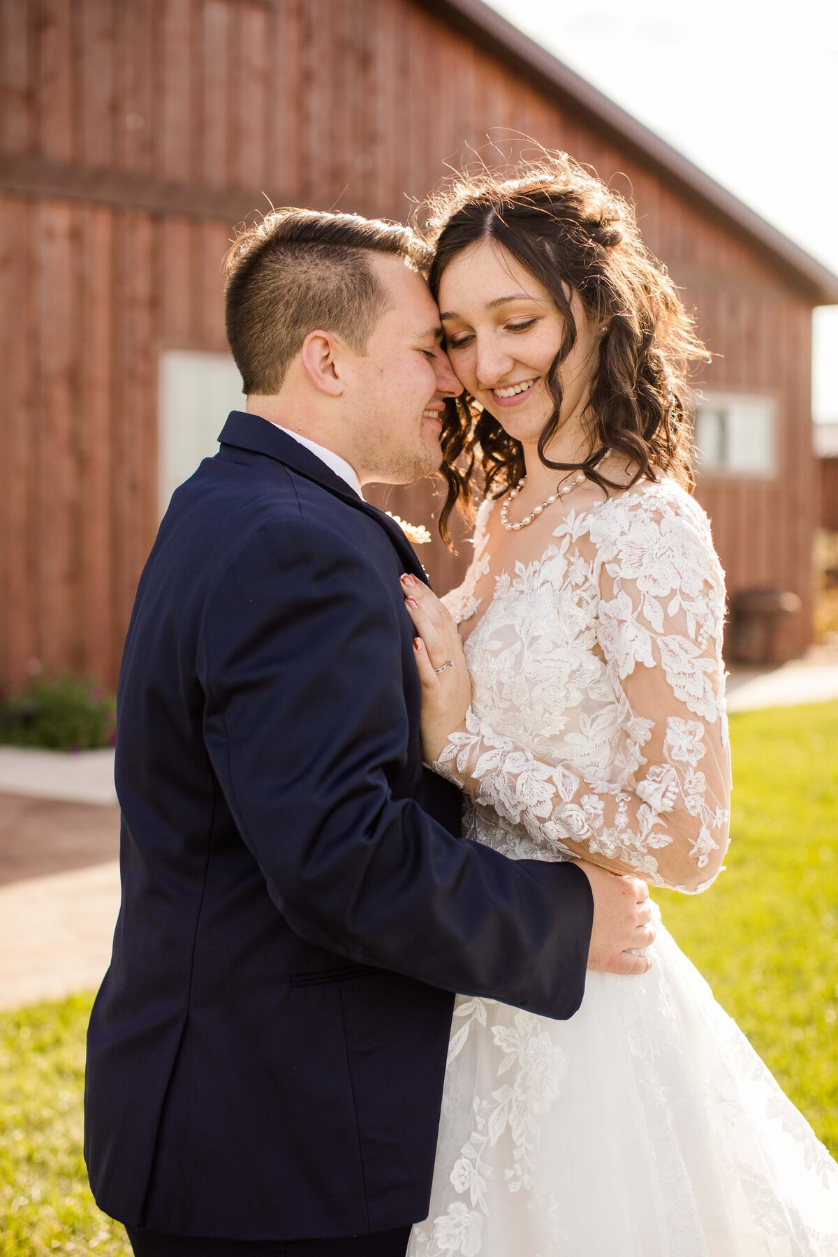
{"label": "man's short brown hair with closely clipped sides", "polygon": [[278,393],[315,328],[366,353],[389,303],[372,253],[421,272],[431,261],[411,228],[357,214],[274,210],[236,238],[226,256],[226,328],[245,393]]}

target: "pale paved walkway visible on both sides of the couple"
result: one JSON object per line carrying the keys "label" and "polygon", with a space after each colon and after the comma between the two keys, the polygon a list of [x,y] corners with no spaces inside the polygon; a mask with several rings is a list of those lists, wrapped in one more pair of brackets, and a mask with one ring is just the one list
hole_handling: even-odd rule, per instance
{"label": "pale paved walkway visible on both sides of the couple", "polygon": [[[838,699],[834,651],[735,670],[729,709]],[[0,1008],[95,989],[119,911],[113,753],[0,748]]]}

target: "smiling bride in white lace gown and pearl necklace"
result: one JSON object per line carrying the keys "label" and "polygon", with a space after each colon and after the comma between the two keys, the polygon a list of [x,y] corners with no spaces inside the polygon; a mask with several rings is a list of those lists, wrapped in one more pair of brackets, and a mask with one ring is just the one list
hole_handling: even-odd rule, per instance
{"label": "smiling bride in white lace gown and pearl necklace", "polygon": [[[443,534],[477,473],[484,503],[445,606],[405,581],[425,758],[474,841],[697,892],[730,792],[724,576],[691,495],[706,351],[626,202],[564,156],[518,176],[462,176],[433,222],[465,388]],[[838,1166],[662,925],[651,955],[589,973],[568,1022],[457,998],[411,1257],[838,1253]]]}

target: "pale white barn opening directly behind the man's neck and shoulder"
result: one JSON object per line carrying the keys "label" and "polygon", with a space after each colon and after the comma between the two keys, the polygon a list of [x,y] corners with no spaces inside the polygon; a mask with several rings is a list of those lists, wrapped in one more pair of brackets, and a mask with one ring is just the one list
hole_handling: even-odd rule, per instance
{"label": "pale white barn opening directly behind the man's neck and shoulder", "polygon": [[160,356],[158,507],[219,449],[231,410],[241,410],[241,376],[229,353],[166,349]]}

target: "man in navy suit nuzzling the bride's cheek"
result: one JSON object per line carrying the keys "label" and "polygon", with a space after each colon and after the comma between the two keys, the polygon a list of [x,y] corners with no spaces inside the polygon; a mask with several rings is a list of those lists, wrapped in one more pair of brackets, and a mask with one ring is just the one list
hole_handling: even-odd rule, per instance
{"label": "man in navy suit nuzzling the bride's cheek", "polygon": [[[459,385],[405,228],[241,236],[248,393],[173,495],[119,681],[122,910],[85,1159],[139,1257],[396,1257],[428,1207],[452,992],[555,1018],[643,972],[646,889],[460,837],[400,576],[361,497],[440,465]],[[593,935],[592,935],[593,921]]]}

